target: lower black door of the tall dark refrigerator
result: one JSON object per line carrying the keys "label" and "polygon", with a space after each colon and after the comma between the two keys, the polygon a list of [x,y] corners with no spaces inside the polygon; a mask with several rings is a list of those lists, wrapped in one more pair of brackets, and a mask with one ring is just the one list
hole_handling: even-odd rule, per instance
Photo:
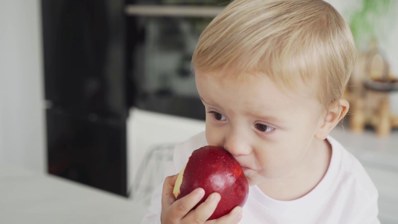
{"label": "lower black door of the tall dark refrigerator", "polygon": [[126,196],[126,121],[61,108],[46,114],[49,173]]}

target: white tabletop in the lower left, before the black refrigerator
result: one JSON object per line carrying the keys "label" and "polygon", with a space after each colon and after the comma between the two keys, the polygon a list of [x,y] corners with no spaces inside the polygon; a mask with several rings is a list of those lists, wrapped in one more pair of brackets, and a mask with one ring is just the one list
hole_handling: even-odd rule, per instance
{"label": "white tabletop in the lower left, before the black refrigerator", "polygon": [[139,224],[146,212],[118,195],[0,164],[2,224]]}

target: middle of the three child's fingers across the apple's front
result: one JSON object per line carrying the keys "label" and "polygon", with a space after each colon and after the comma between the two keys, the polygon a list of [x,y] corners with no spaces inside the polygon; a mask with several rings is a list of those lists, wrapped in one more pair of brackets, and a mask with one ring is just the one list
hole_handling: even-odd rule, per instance
{"label": "middle of the three child's fingers across the apple's front", "polygon": [[220,198],[221,196],[219,193],[210,194],[203,203],[199,204],[195,210],[189,212],[189,214],[187,214],[183,219],[187,220],[189,223],[206,222],[206,220],[213,214],[214,210],[216,210]]}

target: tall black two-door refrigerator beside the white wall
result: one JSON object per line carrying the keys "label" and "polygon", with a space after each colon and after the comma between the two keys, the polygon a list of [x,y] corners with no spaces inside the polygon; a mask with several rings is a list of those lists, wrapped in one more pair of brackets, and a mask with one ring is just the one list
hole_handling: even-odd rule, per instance
{"label": "tall black two-door refrigerator beside the white wall", "polygon": [[128,196],[123,0],[42,0],[48,172]]}

